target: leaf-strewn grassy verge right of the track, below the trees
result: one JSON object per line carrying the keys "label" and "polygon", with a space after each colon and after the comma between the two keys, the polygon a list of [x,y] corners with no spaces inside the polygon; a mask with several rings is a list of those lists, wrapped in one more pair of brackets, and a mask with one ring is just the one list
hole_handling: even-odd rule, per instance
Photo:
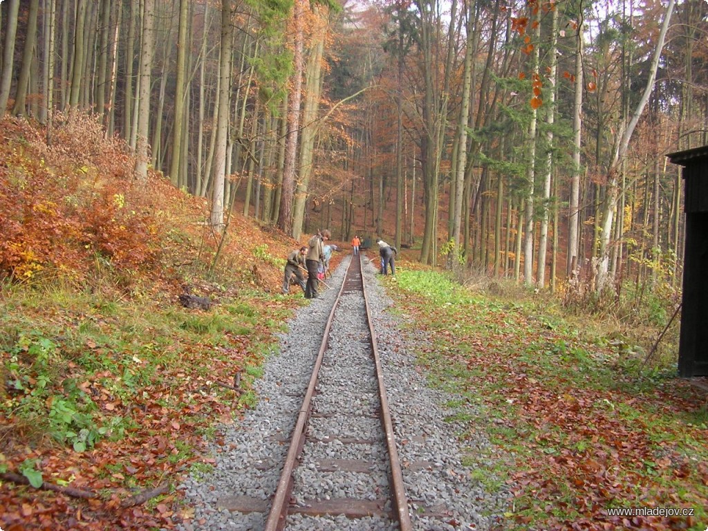
{"label": "leaf-strewn grassy verge right of the track, below the trees", "polygon": [[[475,295],[439,273],[397,273],[396,311],[433,338],[418,353],[430,383],[474,405],[469,432],[484,430],[501,450],[493,465],[472,454],[468,464],[488,488],[511,486],[515,529],[705,529],[706,396],[675,379],[675,367],[640,376],[636,355],[532,300]],[[627,519],[612,508],[693,515]]]}

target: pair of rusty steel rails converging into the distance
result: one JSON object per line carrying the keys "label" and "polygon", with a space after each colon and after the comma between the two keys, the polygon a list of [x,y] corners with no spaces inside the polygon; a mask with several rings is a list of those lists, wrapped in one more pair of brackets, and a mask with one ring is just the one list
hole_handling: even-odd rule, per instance
{"label": "pair of rusty steel rails converging into the distance", "polygon": [[412,529],[408,501],[404,489],[403,474],[401,473],[401,462],[399,460],[398,451],[396,450],[392,419],[389,412],[389,404],[386,389],[384,387],[383,372],[377,350],[376,334],[371,320],[364,279],[361,273],[361,255],[358,254],[352,256],[350,260],[345,278],[332,305],[329,318],[327,319],[321,346],[314,362],[312,376],[309,380],[307,392],[305,393],[302,401],[302,406],[300,406],[295,428],[292,430],[290,447],[287,452],[287,457],[285,458],[285,464],[280,475],[280,481],[278,481],[278,488],[275,491],[275,496],[273,496],[273,503],[270,508],[270,513],[268,513],[268,520],[265,523],[265,531],[282,531],[285,528],[287,513],[290,506],[290,496],[292,494],[292,489],[295,482],[293,472],[295,472],[299,462],[299,457],[304,447],[307,424],[312,413],[312,398],[315,394],[315,387],[318,381],[322,360],[324,359],[325,351],[328,348],[332,322],[334,320],[336,309],[341,301],[343,292],[353,290],[361,290],[364,299],[366,322],[369,330],[369,344],[375,365],[375,375],[377,378],[381,423],[384,430],[386,447],[389,455],[389,491],[393,502],[392,512],[394,513],[394,519],[399,523],[399,529],[401,531],[410,531]]}

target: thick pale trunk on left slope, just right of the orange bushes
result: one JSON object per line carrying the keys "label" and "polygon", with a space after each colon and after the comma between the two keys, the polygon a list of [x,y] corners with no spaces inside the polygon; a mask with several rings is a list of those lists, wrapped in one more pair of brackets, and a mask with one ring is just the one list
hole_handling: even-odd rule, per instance
{"label": "thick pale trunk on left slope, just right of the orange bushes", "polygon": [[147,181],[147,162],[149,161],[150,127],[150,89],[152,87],[152,57],[154,52],[154,0],[145,1],[145,13],[142,20],[142,45],[140,52],[140,98],[138,101],[137,153],[135,173],[137,178]]}

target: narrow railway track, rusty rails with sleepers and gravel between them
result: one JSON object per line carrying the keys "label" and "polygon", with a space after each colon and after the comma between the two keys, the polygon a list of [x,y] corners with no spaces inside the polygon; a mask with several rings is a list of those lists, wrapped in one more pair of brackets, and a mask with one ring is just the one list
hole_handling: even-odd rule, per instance
{"label": "narrow railway track, rusty rails with sleepers and gravel between them", "polygon": [[291,529],[411,530],[359,256],[329,314],[265,522]]}

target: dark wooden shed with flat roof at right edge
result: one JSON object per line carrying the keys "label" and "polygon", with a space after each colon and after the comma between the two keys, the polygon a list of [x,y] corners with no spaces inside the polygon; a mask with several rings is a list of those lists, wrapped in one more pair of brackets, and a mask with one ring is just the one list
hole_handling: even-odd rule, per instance
{"label": "dark wooden shed with flat roof at right edge", "polygon": [[678,374],[685,378],[708,376],[708,146],[666,156],[683,166],[686,183]]}

